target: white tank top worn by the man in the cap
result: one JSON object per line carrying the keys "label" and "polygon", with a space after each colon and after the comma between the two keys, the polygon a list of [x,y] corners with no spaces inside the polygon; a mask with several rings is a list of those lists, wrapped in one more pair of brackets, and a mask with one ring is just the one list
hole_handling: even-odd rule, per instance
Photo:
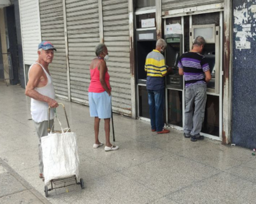
{"label": "white tank top worn by the man in the cap", "polygon": [[[39,63],[36,62],[34,64],[39,64]],[[30,71],[31,67],[34,64],[32,64],[29,67],[28,74],[29,74],[29,71]],[[44,67],[41,64],[39,64],[39,65],[42,67],[42,69],[44,70],[44,73],[46,74],[47,84],[44,87],[37,87],[37,88],[35,88],[35,90],[39,94],[42,94],[42,95],[47,96],[49,98],[55,99],[55,91],[54,91],[54,87],[53,87],[53,83],[52,83],[52,78],[46,72]],[[43,121],[48,121],[48,115],[49,115],[49,109],[48,108],[49,108],[49,105],[46,102],[35,100],[34,98],[31,98],[30,111],[31,111],[31,116],[32,116],[33,121],[35,121],[37,123],[41,123]],[[51,108],[50,120],[53,119],[53,116],[54,116],[53,108]]]}

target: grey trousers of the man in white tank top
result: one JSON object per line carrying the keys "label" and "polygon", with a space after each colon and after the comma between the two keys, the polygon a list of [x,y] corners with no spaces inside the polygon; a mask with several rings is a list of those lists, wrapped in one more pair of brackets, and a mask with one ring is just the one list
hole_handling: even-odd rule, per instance
{"label": "grey trousers of the man in white tank top", "polygon": [[[41,147],[41,138],[48,135],[48,121],[43,121],[41,123],[37,123],[34,121],[37,136],[39,139],[38,143],[38,156],[39,156],[39,172],[43,174],[44,172],[44,164],[43,164],[43,157],[42,157],[42,147]],[[50,128],[52,128],[53,120],[50,120]]]}

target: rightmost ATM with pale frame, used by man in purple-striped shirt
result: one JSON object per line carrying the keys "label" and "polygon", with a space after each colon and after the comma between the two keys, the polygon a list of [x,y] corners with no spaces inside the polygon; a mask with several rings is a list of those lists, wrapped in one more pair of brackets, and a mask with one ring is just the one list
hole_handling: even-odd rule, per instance
{"label": "rightmost ATM with pale frame, used by man in purple-striped shirt", "polygon": [[197,36],[203,36],[206,44],[203,49],[204,55],[209,63],[212,79],[207,83],[207,101],[202,132],[219,136],[220,135],[220,31],[215,24],[192,25],[190,28],[190,48]]}

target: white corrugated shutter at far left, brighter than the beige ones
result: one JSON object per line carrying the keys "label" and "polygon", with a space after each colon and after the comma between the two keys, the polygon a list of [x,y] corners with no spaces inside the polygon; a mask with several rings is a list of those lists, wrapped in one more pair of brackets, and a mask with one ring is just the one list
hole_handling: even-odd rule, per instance
{"label": "white corrugated shutter at far left, brighter than the beige ones", "polygon": [[24,64],[37,60],[37,46],[41,42],[39,5],[36,0],[20,0],[21,35]]}

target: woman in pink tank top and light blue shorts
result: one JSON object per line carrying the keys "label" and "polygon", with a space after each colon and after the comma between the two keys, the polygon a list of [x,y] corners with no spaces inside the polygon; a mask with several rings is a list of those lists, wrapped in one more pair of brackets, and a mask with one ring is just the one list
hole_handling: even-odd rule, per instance
{"label": "woman in pink tank top and light blue shorts", "polygon": [[95,143],[93,148],[103,145],[99,141],[100,119],[105,121],[106,146],[105,151],[117,150],[118,146],[110,143],[110,117],[111,117],[111,87],[106,61],[108,60],[108,49],[105,44],[95,47],[94,58],[90,65],[91,82],[89,86],[90,115],[94,117]]}

